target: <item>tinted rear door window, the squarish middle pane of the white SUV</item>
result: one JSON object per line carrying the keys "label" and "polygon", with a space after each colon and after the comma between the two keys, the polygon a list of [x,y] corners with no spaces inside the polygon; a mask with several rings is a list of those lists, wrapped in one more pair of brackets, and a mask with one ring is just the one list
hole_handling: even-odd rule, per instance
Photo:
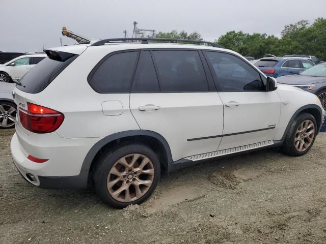
{"label": "tinted rear door window, the squarish middle pane of the white SUV", "polygon": [[198,51],[153,51],[162,92],[205,92],[208,84]]}

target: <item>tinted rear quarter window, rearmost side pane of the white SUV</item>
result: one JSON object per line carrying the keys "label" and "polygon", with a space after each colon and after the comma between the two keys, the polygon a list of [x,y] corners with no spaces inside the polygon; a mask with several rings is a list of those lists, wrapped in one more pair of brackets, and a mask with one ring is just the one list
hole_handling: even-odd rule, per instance
{"label": "tinted rear quarter window, rearmost side pane of the white SUV", "polygon": [[98,93],[129,93],[137,53],[121,52],[107,57],[92,71],[90,85]]}

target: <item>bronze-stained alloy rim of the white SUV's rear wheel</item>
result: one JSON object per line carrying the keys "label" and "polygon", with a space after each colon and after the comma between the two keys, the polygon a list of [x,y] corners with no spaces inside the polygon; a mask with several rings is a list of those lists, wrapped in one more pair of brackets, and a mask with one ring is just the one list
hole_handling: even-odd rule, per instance
{"label": "bronze-stained alloy rim of the white SUV's rear wheel", "polygon": [[119,159],[107,175],[107,191],[119,202],[138,200],[150,189],[154,165],[142,154],[129,154]]}

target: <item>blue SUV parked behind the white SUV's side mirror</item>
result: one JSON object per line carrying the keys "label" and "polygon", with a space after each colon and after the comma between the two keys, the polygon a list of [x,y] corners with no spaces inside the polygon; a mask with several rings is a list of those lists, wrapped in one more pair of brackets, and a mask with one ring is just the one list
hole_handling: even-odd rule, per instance
{"label": "blue SUV parked behind the white SUV's side mirror", "polygon": [[315,64],[301,57],[263,57],[255,66],[271,77],[298,74]]}

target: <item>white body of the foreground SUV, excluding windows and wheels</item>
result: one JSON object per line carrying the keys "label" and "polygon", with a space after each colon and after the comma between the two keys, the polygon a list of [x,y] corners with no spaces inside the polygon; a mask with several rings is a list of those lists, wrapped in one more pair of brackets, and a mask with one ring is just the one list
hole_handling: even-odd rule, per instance
{"label": "white body of the foreground SUV, excluding windows and wheels", "polygon": [[[53,52],[79,56],[39,93],[14,88],[18,108],[26,109],[29,102],[64,114],[62,125],[44,134],[26,130],[17,117],[11,151],[24,178],[44,188],[85,187],[101,148],[133,136],[160,141],[167,149],[165,168],[172,171],[182,162],[279,145],[291,119],[305,109],[315,109],[320,111],[318,116],[324,116],[315,95],[287,85],[276,85],[277,89],[269,92],[99,94],[88,82],[93,68],[107,54],[166,48],[230,53],[266,79],[238,53],[209,46],[139,43],[52,48]],[[142,110],[145,107],[150,110]],[[320,118],[317,122],[321,125]],[[35,163],[29,155],[48,160]],[[28,173],[35,178],[27,177]]]}

